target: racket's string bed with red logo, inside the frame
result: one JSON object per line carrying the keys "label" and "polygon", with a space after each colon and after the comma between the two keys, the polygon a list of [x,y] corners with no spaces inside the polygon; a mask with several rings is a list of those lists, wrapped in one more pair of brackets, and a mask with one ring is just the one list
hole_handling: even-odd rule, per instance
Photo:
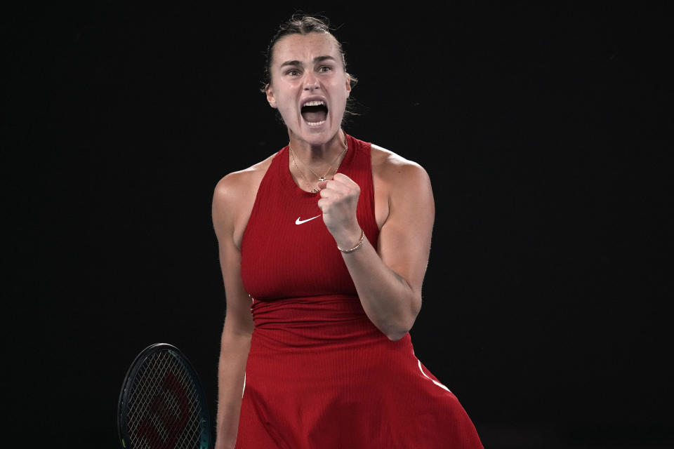
{"label": "racket's string bed with red logo, inside the frame", "polygon": [[202,425],[199,392],[183,362],[170,351],[148,357],[128,398],[131,448],[200,448]]}

